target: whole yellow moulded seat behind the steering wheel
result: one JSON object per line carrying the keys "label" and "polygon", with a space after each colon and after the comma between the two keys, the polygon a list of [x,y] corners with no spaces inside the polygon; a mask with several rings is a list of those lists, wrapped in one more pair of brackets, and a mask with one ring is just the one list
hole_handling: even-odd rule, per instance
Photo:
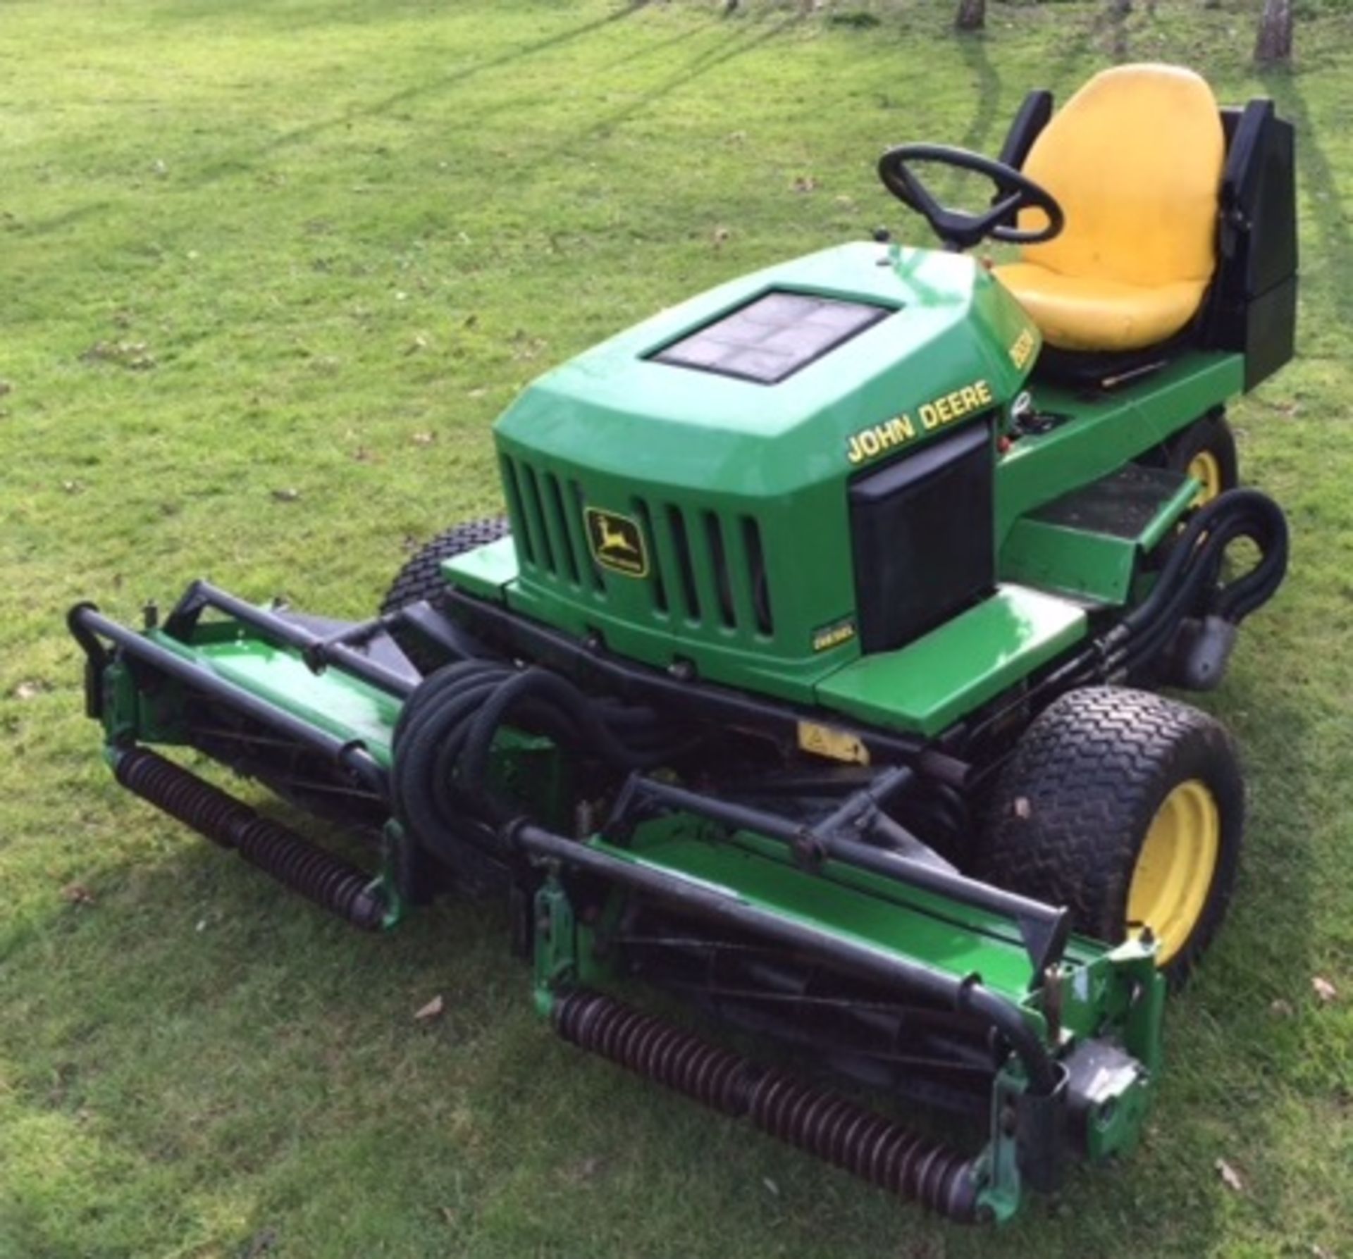
{"label": "whole yellow moulded seat behind the steering wheel", "polygon": [[[1192,70],[1116,66],[1043,128],[1024,173],[1061,203],[1062,231],[996,275],[1062,350],[1135,350],[1180,331],[1216,269],[1226,160],[1211,88]],[[1038,211],[1020,214],[1038,227]]]}

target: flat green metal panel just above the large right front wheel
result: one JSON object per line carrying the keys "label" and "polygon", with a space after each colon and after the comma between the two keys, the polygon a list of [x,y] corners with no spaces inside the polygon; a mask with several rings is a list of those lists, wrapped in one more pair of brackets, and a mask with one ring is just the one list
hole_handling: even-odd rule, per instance
{"label": "flat green metal panel just above the large right front wheel", "polygon": [[909,646],[839,669],[816,698],[861,721],[938,734],[1084,634],[1085,613],[1074,603],[1001,586]]}

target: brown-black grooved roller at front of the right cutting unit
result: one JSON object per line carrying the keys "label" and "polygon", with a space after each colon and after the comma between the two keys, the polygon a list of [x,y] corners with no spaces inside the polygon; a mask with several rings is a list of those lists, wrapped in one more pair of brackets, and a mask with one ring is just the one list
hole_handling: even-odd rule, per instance
{"label": "brown-black grooved roller at front of the right cutting unit", "polygon": [[762,1132],[958,1222],[982,1217],[974,1160],[838,1094],[767,1070],[598,993],[556,999],[555,1030],[583,1049],[746,1116]]}

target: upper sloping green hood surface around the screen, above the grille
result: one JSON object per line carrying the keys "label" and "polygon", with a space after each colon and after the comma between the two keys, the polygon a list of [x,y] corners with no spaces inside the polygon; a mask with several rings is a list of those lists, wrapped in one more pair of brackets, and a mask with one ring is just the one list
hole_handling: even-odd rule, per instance
{"label": "upper sloping green hood surface around the screen, above the grille", "polygon": [[[651,357],[774,291],[892,314],[779,384]],[[495,431],[505,452],[632,484],[763,499],[840,484],[855,471],[856,434],[896,417],[924,440],[921,408],[965,387],[984,383],[993,402],[1008,402],[1036,349],[1034,325],[973,258],[844,245],[723,284],[594,346],[532,384]]]}

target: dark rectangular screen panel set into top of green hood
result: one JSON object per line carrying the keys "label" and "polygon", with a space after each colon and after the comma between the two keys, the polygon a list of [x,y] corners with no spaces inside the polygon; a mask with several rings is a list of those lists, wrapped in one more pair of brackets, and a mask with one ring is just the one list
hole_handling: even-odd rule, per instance
{"label": "dark rectangular screen panel set into top of green hood", "polygon": [[656,362],[779,384],[892,314],[882,306],[770,292],[651,357]]}

